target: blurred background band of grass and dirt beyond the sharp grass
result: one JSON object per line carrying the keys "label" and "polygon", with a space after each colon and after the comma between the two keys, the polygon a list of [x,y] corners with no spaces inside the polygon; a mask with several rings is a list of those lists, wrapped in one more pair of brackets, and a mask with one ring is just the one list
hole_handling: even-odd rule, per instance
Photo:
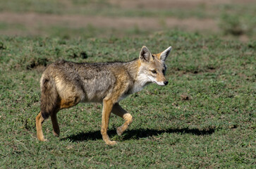
{"label": "blurred background band of grass and dirt beyond the sharp grass", "polygon": [[0,35],[61,38],[184,30],[256,39],[256,0],[1,0]]}

